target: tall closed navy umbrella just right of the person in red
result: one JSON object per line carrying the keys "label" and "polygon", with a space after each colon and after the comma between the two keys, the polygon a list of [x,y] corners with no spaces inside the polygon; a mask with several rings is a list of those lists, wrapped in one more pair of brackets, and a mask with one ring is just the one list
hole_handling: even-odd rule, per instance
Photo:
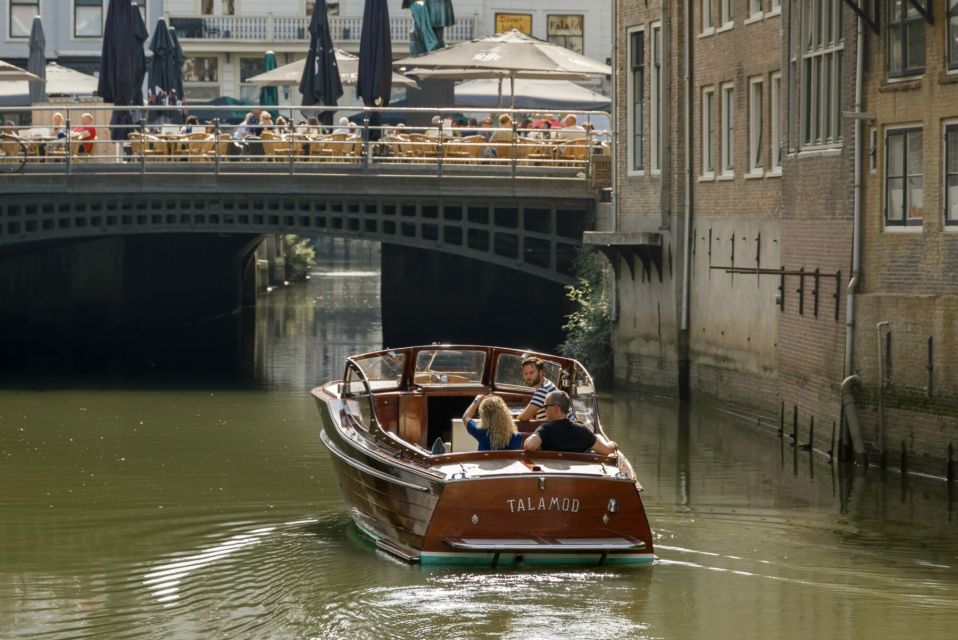
{"label": "tall closed navy umbrella just right of the person in red", "polygon": [[[130,0],[110,0],[106,10],[97,93],[104,102],[116,106],[129,106],[136,96],[136,48],[142,48],[143,41],[135,35],[133,13]],[[112,139],[126,140],[132,124],[129,110],[114,109],[110,118]]]}

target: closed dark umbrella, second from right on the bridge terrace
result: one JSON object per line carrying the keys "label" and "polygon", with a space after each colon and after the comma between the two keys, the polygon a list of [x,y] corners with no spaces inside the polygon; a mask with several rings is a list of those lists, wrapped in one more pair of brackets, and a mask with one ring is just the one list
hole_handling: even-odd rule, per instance
{"label": "closed dark umbrella, second from right on the bridge terrace", "polygon": [[[334,107],[339,103],[343,95],[339,53],[333,49],[333,38],[329,33],[326,0],[319,0],[313,7],[313,17],[309,21],[309,53],[301,61],[303,69],[299,74],[303,106],[318,104]],[[327,126],[332,125],[333,112],[323,111],[319,114],[319,121]]]}

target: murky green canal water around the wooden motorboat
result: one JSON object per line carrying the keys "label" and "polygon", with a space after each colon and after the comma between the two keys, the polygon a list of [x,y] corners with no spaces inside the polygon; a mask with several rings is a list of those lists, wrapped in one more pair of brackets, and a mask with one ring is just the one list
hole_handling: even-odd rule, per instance
{"label": "murky green canal water around the wooden motorboat", "polygon": [[423,568],[350,524],[311,386],[381,344],[376,266],[255,309],[246,366],[0,390],[0,638],[954,638],[945,483],[838,475],[715,409],[606,394],[658,561]]}

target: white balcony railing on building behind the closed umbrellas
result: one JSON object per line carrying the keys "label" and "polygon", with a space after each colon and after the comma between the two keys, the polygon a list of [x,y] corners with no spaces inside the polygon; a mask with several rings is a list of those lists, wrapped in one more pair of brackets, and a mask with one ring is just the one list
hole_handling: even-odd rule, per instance
{"label": "white balcony railing on building behind the closed umbrellas", "polygon": [[[233,42],[309,42],[309,16],[198,16],[172,15],[169,24],[185,41],[207,43]],[[362,16],[330,16],[329,28],[336,44],[359,43]],[[451,44],[475,37],[475,18],[463,18],[446,29],[445,40]],[[389,32],[394,44],[409,42],[413,29],[410,17],[390,18]]]}

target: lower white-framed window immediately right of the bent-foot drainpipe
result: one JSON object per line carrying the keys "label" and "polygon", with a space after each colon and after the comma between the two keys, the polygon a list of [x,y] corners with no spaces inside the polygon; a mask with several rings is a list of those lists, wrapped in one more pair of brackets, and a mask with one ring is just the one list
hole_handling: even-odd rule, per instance
{"label": "lower white-framed window immediately right of the bent-foot drainpipe", "polygon": [[885,224],[920,225],[924,204],[921,129],[891,129],[885,139]]}

